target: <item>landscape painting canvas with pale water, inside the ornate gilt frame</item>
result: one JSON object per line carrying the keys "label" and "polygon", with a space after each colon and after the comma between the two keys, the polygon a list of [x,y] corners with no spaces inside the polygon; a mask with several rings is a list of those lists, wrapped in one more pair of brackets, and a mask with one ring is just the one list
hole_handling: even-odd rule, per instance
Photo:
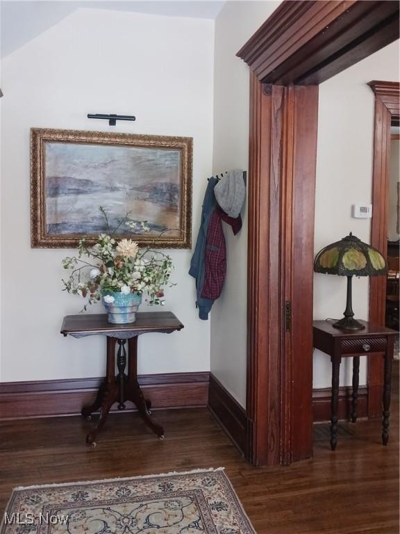
{"label": "landscape painting canvas with pale water, inside the ornate gilt frame", "polygon": [[[179,228],[180,152],[135,147],[47,143],[45,146],[46,232],[99,234],[126,213],[147,220],[151,233]],[[128,233],[126,225],[119,233]]]}

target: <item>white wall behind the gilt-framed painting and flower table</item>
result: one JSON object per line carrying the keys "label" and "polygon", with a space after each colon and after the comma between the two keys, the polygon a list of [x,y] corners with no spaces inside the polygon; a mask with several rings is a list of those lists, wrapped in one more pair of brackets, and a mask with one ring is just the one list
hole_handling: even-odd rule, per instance
{"label": "white wall behind the gilt-framed painting and flower table", "polygon": [[[213,30],[205,19],[80,9],[3,60],[1,380],[104,373],[104,339],[59,333],[63,316],[81,309],[61,291],[60,262],[72,251],[30,246],[29,129],[192,136],[197,233],[213,150]],[[110,128],[88,120],[88,112],[133,113],[137,120]],[[140,373],[210,369],[210,323],[194,307],[190,256],[172,252],[178,285],[166,293],[166,309],[185,328],[140,338]]]}

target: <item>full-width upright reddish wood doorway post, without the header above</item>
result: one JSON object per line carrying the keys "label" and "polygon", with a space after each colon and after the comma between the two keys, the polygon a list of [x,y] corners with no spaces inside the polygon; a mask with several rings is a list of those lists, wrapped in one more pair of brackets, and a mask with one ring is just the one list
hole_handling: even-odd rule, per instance
{"label": "full-width upright reddish wood doorway post, without the header above", "polygon": [[314,210],[303,203],[314,202],[317,106],[316,86],[266,85],[251,74],[247,412],[255,464],[312,453]]}

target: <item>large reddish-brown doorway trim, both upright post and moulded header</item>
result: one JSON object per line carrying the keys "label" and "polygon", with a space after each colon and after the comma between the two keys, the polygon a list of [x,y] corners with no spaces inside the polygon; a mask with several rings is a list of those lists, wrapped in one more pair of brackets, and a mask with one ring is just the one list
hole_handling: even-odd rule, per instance
{"label": "large reddish-brown doorway trim, both upright post and moulded header", "polygon": [[289,1],[238,52],[251,69],[247,455],[312,455],[318,87],[399,36],[399,5]]}

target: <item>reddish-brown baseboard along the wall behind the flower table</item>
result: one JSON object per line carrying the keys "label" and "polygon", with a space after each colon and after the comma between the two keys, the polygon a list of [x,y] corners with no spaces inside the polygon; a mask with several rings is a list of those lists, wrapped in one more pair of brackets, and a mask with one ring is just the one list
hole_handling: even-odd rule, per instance
{"label": "reddish-brown baseboard along the wall behind the flower table", "polygon": [[[76,415],[94,401],[102,378],[3,382],[0,384],[0,420]],[[206,407],[210,373],[142,375],[139,383],[152,408]],[[133,404],[126,403],[127,410]],[[114,410],[117,410],[114,407]]]}

